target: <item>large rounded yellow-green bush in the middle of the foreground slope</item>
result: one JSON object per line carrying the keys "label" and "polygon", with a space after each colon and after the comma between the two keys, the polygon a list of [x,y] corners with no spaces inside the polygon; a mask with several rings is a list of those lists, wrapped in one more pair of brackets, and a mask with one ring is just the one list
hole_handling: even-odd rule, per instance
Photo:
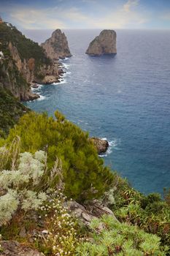
{"label": "large rounded yellow-green bush in the middle of the foreground slope", "polygon": [[[63,168],[64,193],[77,201],[84,201],[101,196],[112,182],[112,173],[104,167],[102,159],[94,146],[88,141],[88,134],[67,121],[56,112],[57,120],[48,118],[45,113],[28,113],[3,143],[10,145],[20,137],[21,152],[34,153],[47,151],[48,172],[42,184],[47,188],[48,177],[56,157],[61,159]],[[55,188],[58,178],[53,178],[51,187]]]}

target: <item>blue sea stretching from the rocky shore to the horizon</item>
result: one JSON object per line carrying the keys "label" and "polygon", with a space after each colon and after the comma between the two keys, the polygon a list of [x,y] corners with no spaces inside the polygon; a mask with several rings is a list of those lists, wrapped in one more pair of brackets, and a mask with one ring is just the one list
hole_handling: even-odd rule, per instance
{"label": "blue sea stretching from the rocky shore to the horizon", "polygon": [[[106,138],[101,155],[140,192],[170,187],[170,31],[116,30],[117,54],[88,56],[101,30],[64,30],[72,57],[61,60],[61,83],[41,85],[27,102],[37,112],[61,111],[90,136]],[[36,42],[51,31],[25,31]]]}

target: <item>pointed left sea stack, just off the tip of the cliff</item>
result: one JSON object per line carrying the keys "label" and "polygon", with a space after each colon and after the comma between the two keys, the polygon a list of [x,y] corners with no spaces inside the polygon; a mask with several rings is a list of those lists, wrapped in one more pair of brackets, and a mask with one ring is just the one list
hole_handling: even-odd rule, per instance
{"label": "pointed left sea stack, just off the tip of the cliff", "polygon": [[41,46],[45,49],[47,56],[53,60],[64,59],[72,56],[66,35],[62,33],[61,29],[53,31],[52,36],[43,42]]}

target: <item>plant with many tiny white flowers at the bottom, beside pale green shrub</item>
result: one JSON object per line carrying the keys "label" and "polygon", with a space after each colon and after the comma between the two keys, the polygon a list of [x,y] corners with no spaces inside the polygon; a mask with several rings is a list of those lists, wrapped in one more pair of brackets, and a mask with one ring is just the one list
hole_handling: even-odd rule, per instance
{"label": "plant with many tiny white flowers at the bottom, beside pale green shrub", "polygon": [[36,237],[36,247],[45,255],[74,256],[75,249],[82,242],[80,226],[70,215],[63,193],[51,190],[39,212],[44,225]]}

